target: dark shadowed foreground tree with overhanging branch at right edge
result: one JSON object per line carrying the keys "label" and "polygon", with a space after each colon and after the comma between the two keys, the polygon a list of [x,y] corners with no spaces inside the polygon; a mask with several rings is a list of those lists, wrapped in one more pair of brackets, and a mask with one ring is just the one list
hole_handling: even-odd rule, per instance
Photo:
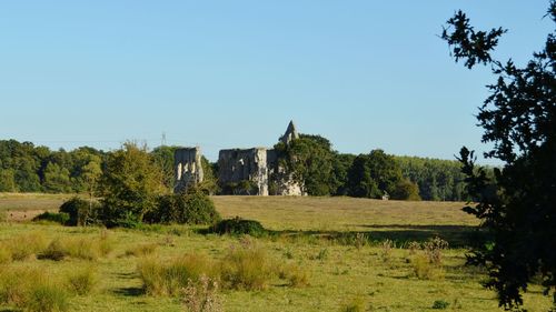
{"label": "dark shadowed foreground tree with overhanging branch at right edge", "polygon": [[[556,22],[556,1],[547,16]],[[500,306],[519,308],[522,292],[537,274],[556,305],[556,36],[549,33],[544,50],[519,68],[490,56],[505,30],[475,31],[461,11],[447,24],[441,37],[456,62],[463,59],[469,69],[488,64],[497,77],[477,119],[483,142],[494,143],[485,157],[504,167],[489,179],[475,165],[473,151],[460,151],[468,192],[478,202],[465,211],[479,218],[493,238],[469,260],[486,265],[486,286],[497,291]]]}

